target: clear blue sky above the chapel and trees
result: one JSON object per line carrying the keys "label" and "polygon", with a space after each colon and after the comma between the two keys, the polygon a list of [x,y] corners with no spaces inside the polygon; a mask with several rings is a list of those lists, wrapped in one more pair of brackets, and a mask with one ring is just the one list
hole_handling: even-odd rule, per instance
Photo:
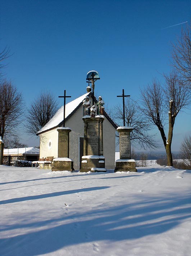
{"label": "clear blue sky above the chapel and trees", "polygon": [[[99,72],[95,94],[105,104],[118,104],[123,88],[138,101],[140,88],[152,78],[163,82],[161,73],[170,70],[170,42],[186,23],[163,28],[190,20],[189,0],[1,1],[0,47],[8,45],[13,53],[4,72],[27,107],[44,89],[56,97],[66,90],[71,100],[84,94],[90,70]],[[186,110],[177,118],[174,151],[191,134],[190,114]],[[28,146],[38,144],[24,133],[22,138]]]}

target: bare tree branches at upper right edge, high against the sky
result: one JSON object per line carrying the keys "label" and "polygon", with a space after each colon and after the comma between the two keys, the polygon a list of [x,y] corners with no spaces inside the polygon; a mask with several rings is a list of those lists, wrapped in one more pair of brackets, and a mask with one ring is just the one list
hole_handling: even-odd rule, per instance
{"label": "bare tree branches at upper right edge, high against the sky", "polygon": [[181,37],[172,47],[172,65],[182,74],[191,89],[191,26],[182,29]]}

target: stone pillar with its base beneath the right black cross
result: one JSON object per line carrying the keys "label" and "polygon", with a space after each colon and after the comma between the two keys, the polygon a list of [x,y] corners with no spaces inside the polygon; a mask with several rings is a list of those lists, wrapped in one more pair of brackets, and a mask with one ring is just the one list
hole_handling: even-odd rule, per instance
{"label": "stone pillar with its base beneath the right black cross", "polygon": [[118,127],[120,159],[115,161],[115,172],[137,172],[135,160],[131,159],[131,137],[132,127]]}

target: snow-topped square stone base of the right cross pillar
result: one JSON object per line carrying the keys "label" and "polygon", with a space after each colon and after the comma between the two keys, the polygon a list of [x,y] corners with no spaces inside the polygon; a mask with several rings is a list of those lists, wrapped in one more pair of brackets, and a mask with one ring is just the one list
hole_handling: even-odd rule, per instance
{"label": "snow-topped square stone base of the right cross pillar", "polygon": [[137,172],[134,159],[118,159],[115,161],[115,172]]}

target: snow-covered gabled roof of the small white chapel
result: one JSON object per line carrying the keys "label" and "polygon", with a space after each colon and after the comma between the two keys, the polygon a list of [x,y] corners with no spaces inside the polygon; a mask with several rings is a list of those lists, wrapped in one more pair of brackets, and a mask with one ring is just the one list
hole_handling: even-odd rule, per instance
{"label": "snow-covered gabled roof of the small white chapel", "polygon": [[[67,121],[83,104],[83,100],[86,98],[86,96],[92,96],[92,92],[88,92],[80,97],[78,97],[75,100],[72,100],[68,104],[65,105],[65,121]],[[94,101],[97,102],[96,99]],[[47,130],[54,129],[56,127],[59,127],[63,123],[63,117],[64,117],[64,108],[63,106],[56,112],[56,114],[50,119],[49,122],[46,123],[45,126],[42,127],[40,131],[37,132],[36,135],[39,135]],[[108,116],[108,114],[104,114],[105,117],[108,119],[108,121],[117,129],[116,123],[113,122],[113,120]]]}

